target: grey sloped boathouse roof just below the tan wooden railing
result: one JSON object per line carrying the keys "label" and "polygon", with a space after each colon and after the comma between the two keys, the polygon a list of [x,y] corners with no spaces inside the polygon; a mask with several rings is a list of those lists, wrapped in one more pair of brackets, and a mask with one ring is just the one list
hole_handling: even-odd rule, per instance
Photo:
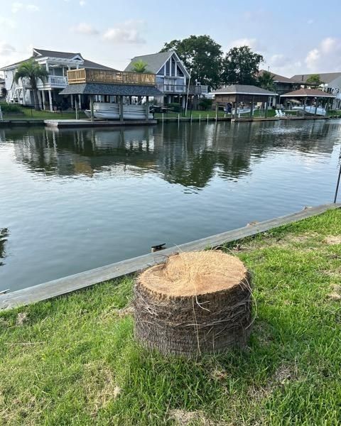
{"label": "grey sloped boathouse roof just below the tan wooden railing", "polygon": [[138,84],[107,84],[107,83],[78,83],[69,84],[60,94],[107,94],[122,96],[163,96],[163,93],[153,86]]}

